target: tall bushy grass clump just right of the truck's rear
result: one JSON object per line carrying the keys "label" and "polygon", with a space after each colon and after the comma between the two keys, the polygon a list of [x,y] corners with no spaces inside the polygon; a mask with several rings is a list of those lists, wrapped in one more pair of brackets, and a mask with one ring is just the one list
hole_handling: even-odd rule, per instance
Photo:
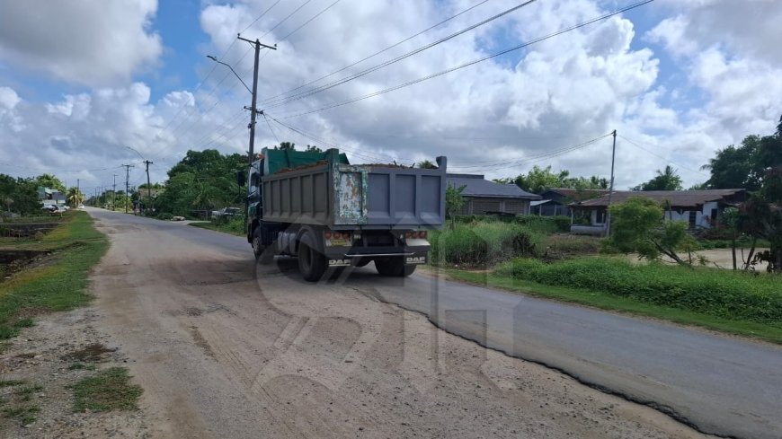
{"label": "tall bushy grass clump just right of the truck's rear", "polygon": [[516,256],[534,256],[542,236],[520,224],[482,221],[433,231],[431,257],[435,263],[486,266]]}

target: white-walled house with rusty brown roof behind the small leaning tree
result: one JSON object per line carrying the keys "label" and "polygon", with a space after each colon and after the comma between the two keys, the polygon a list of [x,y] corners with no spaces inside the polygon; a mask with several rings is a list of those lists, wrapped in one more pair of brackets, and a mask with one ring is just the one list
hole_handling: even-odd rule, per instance
{"label": "white-walled house with rusty brown roof behind the small leaning tree", "polygon": [[[745,189],[710,190],[615,190],[611,205],[630,197],[647,197],[661,203],[665,218],[671,221],[687,221],[691,229],[708,228],[715,224],[725,207],[737,206],[747,199]],[[570,205],[574,211],[585,211],[592,226],[606,224],[609,195],[592,198]]]}

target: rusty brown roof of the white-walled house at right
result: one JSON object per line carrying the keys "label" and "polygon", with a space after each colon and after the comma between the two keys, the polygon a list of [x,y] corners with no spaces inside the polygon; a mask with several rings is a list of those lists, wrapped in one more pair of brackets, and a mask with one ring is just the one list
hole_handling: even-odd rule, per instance
{"label": "rusty brown roof of the white-walled house at right", "polygon": [[[745,196],[744,189],[710,189],[710,190],[615,190],[611,204],[621,203],[630,197],[647,197],[655,201],[670,203],[672,207],[703,206],[709,201],[719,201],[725,198],[741,198]],[[732,199],[731,201],[734,201]],[[588,199],[571,206],[605,207],[609,206],[609,196]]]}

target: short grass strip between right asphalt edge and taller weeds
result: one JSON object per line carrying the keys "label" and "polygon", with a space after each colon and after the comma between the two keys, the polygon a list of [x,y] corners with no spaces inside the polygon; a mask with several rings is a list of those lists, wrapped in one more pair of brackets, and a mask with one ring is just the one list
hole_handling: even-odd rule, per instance
{"label": "short grass strip between right asphalt edge and taller weeds", "polygon": [[493,273],[476,273],[458,269],[446,269],[449,277],[472,285],[499,288],[512,293],[554,299],[560,302],[578,303],[614,312],[668,320],[682,325],[698,326],[727,334],[758,338],[782,345],[782,326],[754,321],[729,320],[672,308],[670,306],[644,303],[631,297],[621,297],[582,288],[544,285],[538,282],[513,277],[502,277]]}

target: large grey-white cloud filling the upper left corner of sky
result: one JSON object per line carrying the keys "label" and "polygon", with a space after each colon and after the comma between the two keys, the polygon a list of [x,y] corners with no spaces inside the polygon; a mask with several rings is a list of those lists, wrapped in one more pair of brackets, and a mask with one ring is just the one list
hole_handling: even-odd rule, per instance
{"label": "large grey-white cloud filling the upper left corner of sky", "polygon": [[68,83],[127,83],[163,52],[156,0],[2,2],[0,59]]}

